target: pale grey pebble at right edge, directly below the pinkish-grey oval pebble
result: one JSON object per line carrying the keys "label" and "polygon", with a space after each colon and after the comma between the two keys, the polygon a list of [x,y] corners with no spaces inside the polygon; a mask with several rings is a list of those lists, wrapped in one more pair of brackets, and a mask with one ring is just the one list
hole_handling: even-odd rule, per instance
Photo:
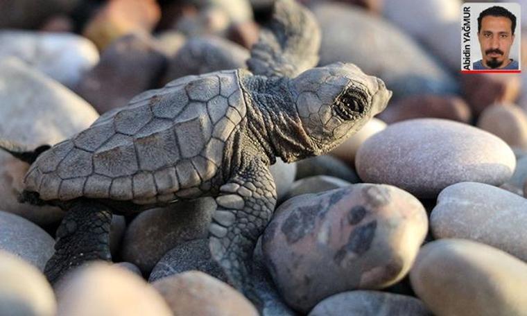
{"label": "pale grey pebble at right edge, directly below the pinkish-grey oval pebble", "polygon": [[527,261],[527,199],[496,186],[448,186],[438,196],[430,226],[436,239],[471,239]]}

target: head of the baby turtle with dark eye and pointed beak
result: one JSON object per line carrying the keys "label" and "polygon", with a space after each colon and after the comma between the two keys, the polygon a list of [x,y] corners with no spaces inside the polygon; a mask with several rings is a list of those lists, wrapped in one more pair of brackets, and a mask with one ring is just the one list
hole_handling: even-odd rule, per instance
{"label": "head of the baby turtle with dark eye and pointed beak", "polygon": [[392,96],[382,80],[343,62],[304,71],[291,86],[314,155],[328,152],[360,130]]}

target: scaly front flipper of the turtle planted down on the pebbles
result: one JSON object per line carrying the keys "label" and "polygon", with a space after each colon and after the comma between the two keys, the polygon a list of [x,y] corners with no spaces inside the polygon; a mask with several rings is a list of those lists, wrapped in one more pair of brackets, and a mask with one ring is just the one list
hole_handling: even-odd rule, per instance
{"label": "scaly front flipper of the turtle planted down on the pebbles", "polygon": [[232,286],[254,301],[250,258],[275,209],[275,182],[266,164],[254,160],[220,191],[209,228],[211,256]]}

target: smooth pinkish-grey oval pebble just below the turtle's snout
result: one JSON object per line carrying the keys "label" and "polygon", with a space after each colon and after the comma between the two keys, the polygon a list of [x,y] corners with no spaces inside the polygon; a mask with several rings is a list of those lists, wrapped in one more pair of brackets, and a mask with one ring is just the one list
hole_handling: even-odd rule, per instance
{"label": "smooth pinkish-grey oval pebble just below the turtle's snout", "polygon": [[514,153],[498,137],[443,119],[392,124],[365,141],[356,157],[364,182],[392,184],[418,198],[435,198],[458,182],[499,186],[515,166]]}

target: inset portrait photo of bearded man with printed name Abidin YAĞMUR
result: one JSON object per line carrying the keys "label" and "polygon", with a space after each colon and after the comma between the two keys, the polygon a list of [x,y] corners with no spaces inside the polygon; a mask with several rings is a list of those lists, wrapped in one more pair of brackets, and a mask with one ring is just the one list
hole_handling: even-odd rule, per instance
{"label": "inset portrait photo of bearded man with printed name Abidin YA\u011eMUR", "polygon": [[519,73],[519,3],[465,3],[461,7],[461,72]]}

